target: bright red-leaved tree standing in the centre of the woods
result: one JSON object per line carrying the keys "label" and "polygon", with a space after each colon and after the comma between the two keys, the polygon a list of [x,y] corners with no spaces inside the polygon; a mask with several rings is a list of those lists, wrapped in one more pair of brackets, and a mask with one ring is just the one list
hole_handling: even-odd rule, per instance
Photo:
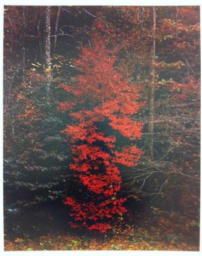
{"label": "bright red-leaved tree standing in the centre of the woods", "polygon": [[133,143],[141,138],[143,123],[133,120],[143,103],[138,87],[132,84],[129,74],[116,65],[116,50],[107,48],[106,40],[99,35],[103,25],[97,24],[92,33],[90,47],[80,53],[74,64],[80,73],[71,84],[61,84],[69,94],[61,102],[62,112],[69,112],[74,124],[62,131],[70,138],[72,164],[80,182],[91,193],[91,200],[65,198],[75,220],[72,227],[106,232],[111,228],[109,219],[125,213],[126,198],[118,198],[121,177],[120,166],[134,167],[143,152],[135,145],[117,146],[117,136]]}

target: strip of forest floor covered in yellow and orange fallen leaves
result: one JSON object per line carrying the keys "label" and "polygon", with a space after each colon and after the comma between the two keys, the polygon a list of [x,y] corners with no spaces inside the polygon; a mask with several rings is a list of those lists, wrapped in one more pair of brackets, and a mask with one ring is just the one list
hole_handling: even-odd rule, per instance
{"label": "strip of forest floor covered in yellow and orange fallen leaves", "polygon": [[31,238],[5,237],[5,250],[199,250],[198,245],[185,241],[174,234],[162,236],[156,227],[148,231],[143,228],[128,228],[107,237],[86,237],[78,234],[46,234]]}

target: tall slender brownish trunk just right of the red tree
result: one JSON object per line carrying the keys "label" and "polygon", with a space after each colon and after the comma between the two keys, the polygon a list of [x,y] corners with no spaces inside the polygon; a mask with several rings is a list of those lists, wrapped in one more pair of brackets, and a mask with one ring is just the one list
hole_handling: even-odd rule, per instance
{"label": "tall slender brownish trunk just right of the red tree", "polygon": [[156,8],[151,7],[153,18],[153,45],[151,47],[151,84],[149,86],[149,157],[151,161],[154,159],[154,86],[155,86],[155,68],[154,63],[156,59]]}

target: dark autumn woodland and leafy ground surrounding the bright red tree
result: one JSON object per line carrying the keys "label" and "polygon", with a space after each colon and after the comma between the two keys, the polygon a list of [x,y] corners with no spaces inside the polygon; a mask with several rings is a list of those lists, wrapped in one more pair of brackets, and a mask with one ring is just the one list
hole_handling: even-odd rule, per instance
{"label": "dark autumn woodland and leafy ground surrounding the bright red tree", "polygon": [[[104,235],[67,224],[78,184],[57,110],[96,20],[146,102],[145,154],[121,172],[128,212]],[[200,7],[4,6],[6,250],[198,250],[199,229]]]}

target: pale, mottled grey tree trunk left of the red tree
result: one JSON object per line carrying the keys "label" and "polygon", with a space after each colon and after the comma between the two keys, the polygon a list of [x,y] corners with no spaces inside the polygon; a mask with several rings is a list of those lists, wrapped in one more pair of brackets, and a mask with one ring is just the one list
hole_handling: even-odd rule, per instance
{"label": "pale, mottled grey tree trunk left of the red tree", "polygon": [[45,40],[45,61],[46,61],[46,102],[50,99],[51,85],[51,7],[46,6],[46,40]]}

